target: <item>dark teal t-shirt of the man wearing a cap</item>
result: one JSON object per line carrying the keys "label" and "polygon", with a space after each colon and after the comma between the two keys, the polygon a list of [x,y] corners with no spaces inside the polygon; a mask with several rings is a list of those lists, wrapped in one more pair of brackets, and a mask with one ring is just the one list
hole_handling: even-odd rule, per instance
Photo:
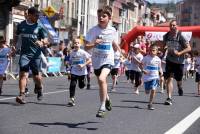
{"label": "dark teal t-shirt of the man wearing a cap", "polygon": [[35,42],[47,37],[47,32],[40,23],[28,24],[26,20],[22,21],[17,26],[17,35],[21,37],[21,55],[30,58],[40,56],[41,48]]}

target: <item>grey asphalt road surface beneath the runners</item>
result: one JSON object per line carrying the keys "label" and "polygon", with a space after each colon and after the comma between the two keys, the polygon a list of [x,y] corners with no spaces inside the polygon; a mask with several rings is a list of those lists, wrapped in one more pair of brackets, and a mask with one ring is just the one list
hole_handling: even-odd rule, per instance
{"label": "grey asphalt road surface beneath the runners", "polygon": [[[157,93],[156,109],[149,111],[143,87],[135,95],[133,86],[120,77],[117,91],[110,93],[113,110],[102,119],[95,116],[100,105],[95,77],[91,90],[77,88],[74,107],[67,107],[69,82],[65,77],[45,78],[44,83],[44,100],[37,101],[31,80],[28,103],[18,105],[18,81],[5,81],[0,96],[0,134],[164,134],[200,106],[194,79],[184,81],[184,96],[174,91],[172,106],[163,105],[166,94]],[[200,119],[185,134],[199,134],[199,126]]]}

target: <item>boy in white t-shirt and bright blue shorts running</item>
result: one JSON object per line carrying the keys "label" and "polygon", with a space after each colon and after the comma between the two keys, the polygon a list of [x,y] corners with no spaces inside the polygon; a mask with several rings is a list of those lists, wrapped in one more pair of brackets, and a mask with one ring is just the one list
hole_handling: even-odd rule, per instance
{"label": "boy in white t-shirt and bright blue shorts running", "polygon": [[150,93],[148,109],[154,110],[152,104],[156,95],[156,89],[159,84],[159,72],[163,75],[161,60],[157,55],[158,47],[156,45],[150,46],[150,54],[144,57],[142,60],[142,69],[144,73],[144,86],[146,94]]}

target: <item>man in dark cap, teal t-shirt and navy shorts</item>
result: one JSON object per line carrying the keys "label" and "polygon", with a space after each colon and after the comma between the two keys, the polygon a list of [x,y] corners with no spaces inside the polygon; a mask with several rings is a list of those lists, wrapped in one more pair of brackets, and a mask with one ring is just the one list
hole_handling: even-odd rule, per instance
{"label": "man in dark cap, teal t-shirt and navy shorts", "polygon": [[35,93],[37,99],[41,100],[42,94],[42,76],[40,73],[41,66],[41,46],[48,43],[45,29],[38,23],[39,11],[31,7],[28,9],[26,20],[22,21],[17,27],[17,36],[21,39],[21,51],[19,59],[19,96],[16,102],[25,104],[25,88],[29,69],[32,71],[35,82]]}

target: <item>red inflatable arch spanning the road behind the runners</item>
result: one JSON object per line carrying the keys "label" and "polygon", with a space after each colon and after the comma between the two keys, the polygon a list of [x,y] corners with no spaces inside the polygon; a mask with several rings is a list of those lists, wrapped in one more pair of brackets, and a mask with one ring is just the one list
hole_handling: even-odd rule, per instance
{"label": "red inflatable arch spanning the road behind the runners", "polygon": [[[200,26],[182,26],[177,27],[180,31],[192,32],[192,37],[200,38]],[[122,37],[121,48],[128,52],[129,44],[134,41],[137,36],[145,35],[146,31],[167,32],[169,27],[152,27],[152,26],[136,26],[128,34]]]}

